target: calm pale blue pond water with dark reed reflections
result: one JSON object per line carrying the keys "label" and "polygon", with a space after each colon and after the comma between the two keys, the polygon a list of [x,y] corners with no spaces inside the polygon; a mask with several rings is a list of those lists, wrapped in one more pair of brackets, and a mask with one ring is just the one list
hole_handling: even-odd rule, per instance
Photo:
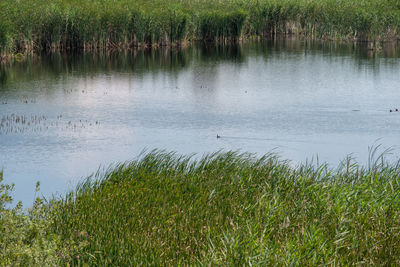
{"label": "calm pale blue pond water with dark reed reflections", "polygon": [[36,181],[62,194],[143,149],[365,164],[400,144],[399,54],[285,40],[28,58],[0,68],[0,168],[29,204]]}

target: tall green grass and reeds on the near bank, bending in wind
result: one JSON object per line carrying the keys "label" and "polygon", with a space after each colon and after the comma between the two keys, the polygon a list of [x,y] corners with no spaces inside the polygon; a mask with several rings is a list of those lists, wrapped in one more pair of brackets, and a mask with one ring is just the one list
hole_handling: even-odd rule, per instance
{"label": "tall green grass and reeds on the near bank, bending in wind", "polygon": [[330,170],[152,152],[43,204],[44,230],[21,244],[45,240],[53,258],[41,257],[72,265],[398,265],[399,193],[400,166],[380,160]]}

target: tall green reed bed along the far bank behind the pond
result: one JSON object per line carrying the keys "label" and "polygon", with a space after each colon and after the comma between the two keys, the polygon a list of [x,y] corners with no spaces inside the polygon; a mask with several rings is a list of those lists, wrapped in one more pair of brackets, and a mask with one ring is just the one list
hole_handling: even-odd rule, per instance
{"label": "tall green reed bed along the far bank behind the pond", "polygon": [[396,0],[3,0],[0,48],[5,57],[274,34],[395,40],[399,8]]}

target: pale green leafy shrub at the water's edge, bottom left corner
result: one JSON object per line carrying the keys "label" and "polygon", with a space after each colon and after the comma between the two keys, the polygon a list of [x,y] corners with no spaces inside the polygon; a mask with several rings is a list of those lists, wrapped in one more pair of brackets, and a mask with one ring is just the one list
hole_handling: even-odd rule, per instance
{"label": "pale green leafy shrub at the water's edge, bottom left corner", "polygon": [[27,211],[22,210],[20,202],[11,207],[14,185],[2,181],[0,172],[0,266],[59,266],[82,249],[82,243],[61,240],[54,233],[50,212],[54,206],[36,198]]}

